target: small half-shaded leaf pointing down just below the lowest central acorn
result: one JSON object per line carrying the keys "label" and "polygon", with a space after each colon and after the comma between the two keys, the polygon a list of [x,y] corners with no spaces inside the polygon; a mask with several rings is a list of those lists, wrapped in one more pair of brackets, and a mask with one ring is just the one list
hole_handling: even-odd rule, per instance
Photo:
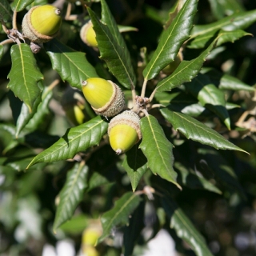
{"label": "small half-shaded leaf pointing down just below the lowest central acorn", "polygon": [[145,155],[142,153],[142,150],[138,149],[137,144],[126,152],[126,157],[122,163],[122,166],[130,178],[133,191],[136,190],[138,182],[147,170],[146,162]]}

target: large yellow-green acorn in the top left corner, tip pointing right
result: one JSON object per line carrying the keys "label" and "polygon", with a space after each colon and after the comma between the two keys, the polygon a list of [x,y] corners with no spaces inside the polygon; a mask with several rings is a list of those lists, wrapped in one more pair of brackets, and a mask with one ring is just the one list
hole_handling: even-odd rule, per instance
{"label": "large yellow-green acorn in the top left corner, tip pointing right", "polygon": [[48,42],[58,34],[61,10],[54,6],[34,6],[22,20],[22,34],[31,42]]}

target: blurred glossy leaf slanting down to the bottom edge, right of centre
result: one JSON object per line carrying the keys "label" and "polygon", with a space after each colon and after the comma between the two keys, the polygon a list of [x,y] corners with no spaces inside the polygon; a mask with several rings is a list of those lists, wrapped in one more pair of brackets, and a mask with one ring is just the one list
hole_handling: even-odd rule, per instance
{"label": "blurred glossy leaf slanting down to the bottom edge, right of centre", "polygon": [[202,234],[196,230],[193,223],[173,201],[162,198],[162,206],[170,218],[170,228],[176,231],[179,238],[186,241],[198,256],[213,256],[206,245]]}

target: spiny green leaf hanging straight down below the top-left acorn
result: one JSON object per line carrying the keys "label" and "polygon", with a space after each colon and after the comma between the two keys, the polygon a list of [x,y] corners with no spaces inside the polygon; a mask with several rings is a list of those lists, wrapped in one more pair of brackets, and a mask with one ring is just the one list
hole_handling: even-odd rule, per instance
{"label": "spiny green leaf hanging straight down below the top-left acorn", "polygon": [[18,98],[25,102],[31,112],[41,94],[38,82],[42,80],[43,75],[38,70],[30,46],[26,43],[12,46],[10,56],[12,66],[8,74],[8,78],[10,78],[8,87]]}

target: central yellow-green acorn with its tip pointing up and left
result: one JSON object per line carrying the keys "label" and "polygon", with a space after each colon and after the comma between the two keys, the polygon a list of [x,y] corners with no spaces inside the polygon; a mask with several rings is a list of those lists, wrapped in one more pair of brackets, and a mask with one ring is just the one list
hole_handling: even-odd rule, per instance
{"label": "central yellow-green acorn with its tip pointing up and left", "polygon": [[125,97],[119,86],[103,78],[88,78],[82,82],[82,93],[96,114],[113,117],[125,106]]}

